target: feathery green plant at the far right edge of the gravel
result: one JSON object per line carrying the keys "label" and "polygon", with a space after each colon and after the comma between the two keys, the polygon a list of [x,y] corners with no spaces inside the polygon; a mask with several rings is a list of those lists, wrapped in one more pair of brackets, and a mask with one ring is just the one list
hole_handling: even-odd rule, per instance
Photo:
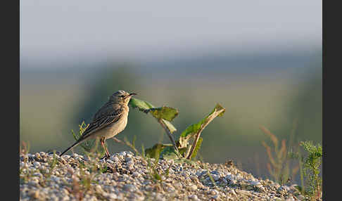
{"label": "feathery green plant at the far right edge of the gravel", "polygon": [[291,159],[299,160],[302,180],[299,189],[305,195],[309,195],[311,200],[319,199],[322,197],[322,177],[319,176],[323,156],[322,146],[319,143],[315,145],[312,141],[301,141],[299,145],[306,151],[306,157],[300,154],[299,149],[297,152],[289,152]]}

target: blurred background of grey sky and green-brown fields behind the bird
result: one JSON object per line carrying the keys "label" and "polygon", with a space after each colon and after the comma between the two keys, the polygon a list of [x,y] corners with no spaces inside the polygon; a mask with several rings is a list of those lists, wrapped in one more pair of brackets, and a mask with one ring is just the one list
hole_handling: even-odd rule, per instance
{"label": "blurred background of grey sky and green-brown fields behind the bird", "polygon": [[[120,89],[179,109],[175,136],[220,103],[203,160],[269,177],[260,125],[322,142],[322,1],[20,1],[20,141],[31,153],[68,148]],[[169,143],[132,109],[124,136]]]}

